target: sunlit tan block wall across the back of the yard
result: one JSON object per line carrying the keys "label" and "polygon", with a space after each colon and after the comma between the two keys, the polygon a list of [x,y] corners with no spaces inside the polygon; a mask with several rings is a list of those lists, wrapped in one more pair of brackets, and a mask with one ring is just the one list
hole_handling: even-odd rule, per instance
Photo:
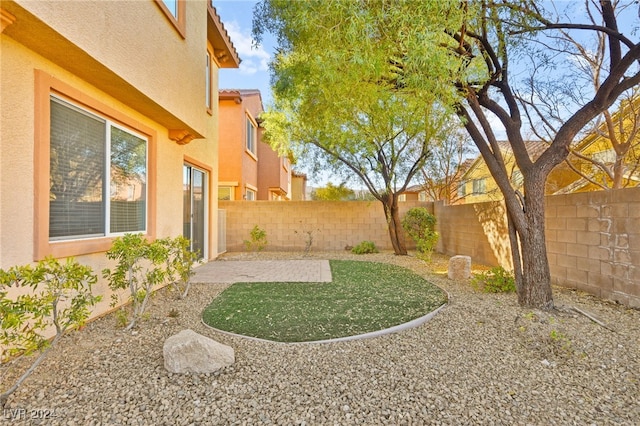
{"label": "sunlit tan block wall across the back of the yard", "polygon": [[[432,203],[407,201],[400,203],[400,217],[416,206],[433,212]],[[267,233],[266,250],[303,251],[309,232],[312,250],[344,250],[364,240],[392,249],[379,201],[219,201],[218,208],[227,212],[228,251],[244,250],[255,225]]]}

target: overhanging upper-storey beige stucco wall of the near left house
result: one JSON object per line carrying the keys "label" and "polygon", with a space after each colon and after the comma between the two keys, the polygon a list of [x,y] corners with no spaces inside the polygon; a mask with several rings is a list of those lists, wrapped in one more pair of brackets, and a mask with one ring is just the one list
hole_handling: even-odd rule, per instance
{"label": "overhanging upper-storey beige stucco wall of the near left house", "polygon": [[[28,14],[34,16],[33,22],[27,23],[31,32],[24,40],[27,46],[31,43],[42,46],[44,56],[63,63],[76,75],[83,76],[86,72],[85,80],[107,92],[109,85],[126,82],[143,95],[134,101],[138,105],[132,107],[142,110],[148,107],[143,105],[145,102],[152,101],[200,135],[207,132],[207,120],[202,114],[206,0],[186,2],[184,39],[154,1],[18,0],[12,3],[3,2],[3,8],[14,14],[20,9],[26,11],[25,16],[21,14],[13,24],[15,28],[25,24],[21,21],[31,19]],[[39,22],[46,24],[38,25]],[[10,27],[7,31],[13,30]],[[70,49],[69,44],[77,50]],[[175,124],[175,128],[180,128]]]}

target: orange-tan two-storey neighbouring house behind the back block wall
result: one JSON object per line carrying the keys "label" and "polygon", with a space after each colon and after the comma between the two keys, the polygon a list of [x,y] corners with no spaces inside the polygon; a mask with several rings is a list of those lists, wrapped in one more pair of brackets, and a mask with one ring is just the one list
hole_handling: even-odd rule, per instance
{"label": "orange-tan two-storey neighbouring house behind the back block wall", "polygon": [[259,90],[220,90],[220,200],[289,200],[291,164],[262,142]]}

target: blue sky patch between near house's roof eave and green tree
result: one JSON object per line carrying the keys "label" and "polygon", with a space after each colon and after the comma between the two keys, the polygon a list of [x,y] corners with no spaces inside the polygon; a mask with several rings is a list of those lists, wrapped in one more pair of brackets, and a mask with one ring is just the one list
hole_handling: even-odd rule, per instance
{"label": "blue sky patch between near house's roof eave and green tree", "polygon": [[220,70],[220,89],[259,89],[265,106],[271,103],[269,61],[273,57],[273,38],[265,35],[259,48],[252,47],[251,29],[255,0],[214,0],[216,8],[242,63],[239,69]]}

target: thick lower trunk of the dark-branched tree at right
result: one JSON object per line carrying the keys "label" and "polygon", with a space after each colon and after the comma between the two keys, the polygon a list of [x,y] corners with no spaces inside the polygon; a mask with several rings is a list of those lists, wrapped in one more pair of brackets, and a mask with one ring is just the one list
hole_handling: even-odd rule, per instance
{"label": "thick lower trunk of the dark-branched tree at right", "polygon": [[[542,188],[542,189],[540,189]],[[526,188],[524,228],[517,229],[522,255],[522,283],[518,286],[521,306],[553,308],[551,273],[545,236],[544,180]],[[522,212],[520,212],[522,214]],[[516,262],[514,259],[514,267]],[[517,276],[517,274],[516,274]]]}

